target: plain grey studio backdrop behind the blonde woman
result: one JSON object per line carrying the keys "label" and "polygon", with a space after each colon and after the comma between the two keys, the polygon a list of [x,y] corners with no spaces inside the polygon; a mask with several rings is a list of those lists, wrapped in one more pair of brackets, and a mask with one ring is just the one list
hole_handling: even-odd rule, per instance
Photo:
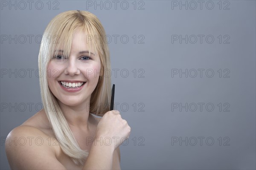
{"label": "plain grey studio backdrop behind the blonde woman", "polygon": [[[119,69],[112,70],[116,109],[132,128],[121,147],[122,169],[256,169],[255,0],[221,1],[221,7],[219,0],[204,1],[202,8],[198,1],[117,1],[116,9],[113,1],[111,8],[104,1],[52,1],[51,6],[33,1],[31,9],[23,2],[26,7],[16,1],[17,9],[9,9],[10,2],[1,0],[1,169],[9,169],[5,137],[41,109],[35,76],[40,37],[35,37],[52,17],[68,10],[92,12],[112,37],[111,66]],[[102,6],[95,9],[95,3]],[[9,35],[17,35],[17,43],[5,40]],[[188,35],[188,42],[174,40],[175,35]],[[198,35],[204,35],[201,43]],[[17,77],[9,75],[15,69]],[[27,69],[34,69],[31,77]],[[176,69],[187,69],[187,77],[172,75]],[[198,69],[204,69],[201,77]],[[204,103],[201,111],[198,103]]]}

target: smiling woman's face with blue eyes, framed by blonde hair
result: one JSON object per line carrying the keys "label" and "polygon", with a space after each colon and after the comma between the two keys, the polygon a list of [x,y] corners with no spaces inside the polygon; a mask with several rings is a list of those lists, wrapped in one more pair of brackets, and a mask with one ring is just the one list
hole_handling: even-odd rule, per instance
{"label": "smiling woman's face with blue eyes, framed by blonde hair", "polygon": [[64,105],[90,103],[90,96],[99,80],[101,62],[95,51],[90,51],[86,34],[77,30],[73,35],[69,56],[61,49],[48,64],[48,86]]}

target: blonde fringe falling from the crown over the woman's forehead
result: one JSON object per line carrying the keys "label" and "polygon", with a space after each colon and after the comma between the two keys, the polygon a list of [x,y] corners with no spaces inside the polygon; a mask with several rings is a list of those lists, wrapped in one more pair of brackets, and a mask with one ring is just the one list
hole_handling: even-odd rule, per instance
{"label": "blonde fringe falling from the crown over the woman's forehead", "polygon": [[[54,18],[51,22],[55,24],[50,30],[46,30],[48,34],[45,35],[47,40],[49,40],[49,37],[52,39],[48,42],[49,46],[47,48],[49,49],[49,58],[47,62],[57,55],[58,52],[61,52],[64,56],[69,56],[74,32],[78,30],[83,30],[86,37],[89,38],[89,40],[88,38],[86,40],[89,47],[89,53],[93,51],[94,54],[102,54],[101,45],[94,43],[94,37],[97,37],[99,32],[91,26],[90,22],[86,20],[86,18],[80,17],[78,20],[76,14],[68,16],[64,15],[63,18],[61,18],[60,15],[59,18]],[[49,23],[49,25],[50,24],[51,23]],[[90,40],[91,37],[93,40]],[[103,41],[103,39],[101,39],[101,41]]]}

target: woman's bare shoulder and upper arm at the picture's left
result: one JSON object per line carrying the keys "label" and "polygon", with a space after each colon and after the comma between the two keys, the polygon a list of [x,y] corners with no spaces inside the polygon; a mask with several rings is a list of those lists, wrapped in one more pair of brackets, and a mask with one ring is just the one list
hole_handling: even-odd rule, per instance
{"label": "woman's bare shoulder and upper arm at the picture's left", "polygon": [[55,147],[49,144],[51,136],[44,133],[40,123],[33,125],[36,117],[15,127],[6,138],[6,156],[11,169],[65,169],[55,156]]}

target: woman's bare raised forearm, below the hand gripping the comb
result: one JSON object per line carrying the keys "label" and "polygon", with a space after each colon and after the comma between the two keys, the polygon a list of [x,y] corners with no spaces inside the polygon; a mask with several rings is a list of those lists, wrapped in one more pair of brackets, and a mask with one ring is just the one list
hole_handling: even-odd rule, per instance
{"label": "woman's bare raised forearm, below the hand gripping the comb", "polygon": [[114,147],[105,144],[92,145],[83,170],[111,170]]}

